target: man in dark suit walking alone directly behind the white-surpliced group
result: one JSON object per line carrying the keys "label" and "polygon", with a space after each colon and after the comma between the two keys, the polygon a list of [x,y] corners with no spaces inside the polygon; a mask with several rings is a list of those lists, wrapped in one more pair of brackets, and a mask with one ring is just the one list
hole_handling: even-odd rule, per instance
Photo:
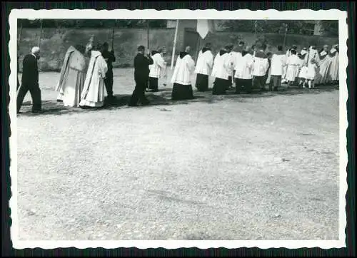
{"label": "man in dark suit walking alone directly behind the white-surpliced group", "polygon": [[138,105],[138,101],[141,105],[148,105],[149,100],[145,97],[145,89],[149,83],[149,65],[153,64],[154,61],[150,56],[150,51],[148,49],[147,55],[145,55],[145,47],[138,47],[138,54],[134,58],[134,79],[135,79],[135,89],[131,95],[129,106]]}

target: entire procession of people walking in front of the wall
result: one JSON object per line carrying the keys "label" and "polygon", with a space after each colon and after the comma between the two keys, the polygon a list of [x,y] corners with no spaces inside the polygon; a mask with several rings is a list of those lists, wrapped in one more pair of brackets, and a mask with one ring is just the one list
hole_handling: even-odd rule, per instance
{"label": "entire procession of people walking in front of the wall", "polygon": [[[113,48],[113,47],[112,47]],[[208,78],[214,78],[212,94],[224,95],[235,85],[236,93],[252,93],[253,89],[278,91],[283,83],[287,87],[297,85],[301,88],[314,88],[315,85],[338,83],[338,45],[331,48],[323,46],[321,51],[316,46],[303,47],[298,52],[297,46],[283,52],[283,46],[277,46],[276,53],[266,53],[266,44],[257,43],[246,46],[239,41],[236,48],[226,45],[213,56],[211,43],[206,43],[199,50],[195,63],[191,56],[191,47],[186,46],[178,54],[171,83],[171,99],[193,99],[191,78],[196,73],[198,91],[208,91]],[[128,105],[149,105],[145,92],[159,91],[159,78],[166,78],[167,63],[164,60],[165,47],[149,51],[144,46],[137,48],[134,58],[135,89]],[[17,112],[19,113],[26,93],[30,91],[34,113],[41,112],[41,90],[39,88],[39,69],[37,61],[40,48],[35,46],[23,61],[21,86],[18,83]],[[107,103],[114,103],[113,63],[116,61],[114,50],[109,51],[109,44],[96,44],[94,38],[86,46],[70,46],[64,57],[59,82],[55,90],[57,101],[67,107],[99,108]],[[105,98],[105,91],[107,98]]]}

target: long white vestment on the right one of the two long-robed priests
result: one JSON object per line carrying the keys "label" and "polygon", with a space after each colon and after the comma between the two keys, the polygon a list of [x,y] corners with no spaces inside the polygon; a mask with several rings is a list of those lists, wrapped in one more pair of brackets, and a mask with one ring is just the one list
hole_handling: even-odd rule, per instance
{"label": "long white vestment on the right one of the two long-robed priests", "polygon": [[101,107],[104,105],[104,78],[107,71],[108,66],[101,52],[91,51],[80,106]]}

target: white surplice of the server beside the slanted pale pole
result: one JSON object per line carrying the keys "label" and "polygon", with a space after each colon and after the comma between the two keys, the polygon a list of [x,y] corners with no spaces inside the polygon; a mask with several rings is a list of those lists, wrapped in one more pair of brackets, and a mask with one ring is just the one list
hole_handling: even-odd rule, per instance
{"label": "white surplice of the server beside the slanted pale pole", "polygon": [[181,85],[191,85],[191,75],[195,69],[195,61],[190,55],[177,57],[174,73],[171,78],[171,83]]}

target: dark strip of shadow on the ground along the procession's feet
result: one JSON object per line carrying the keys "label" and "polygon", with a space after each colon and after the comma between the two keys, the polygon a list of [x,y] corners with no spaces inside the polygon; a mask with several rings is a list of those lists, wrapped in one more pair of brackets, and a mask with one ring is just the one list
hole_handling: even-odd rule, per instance
{"label": "dark strip of shadow on the ground along the procession's feet", "polygon": [[[251,94],[241,93],[236,94],[233,91],[227,91],[226,95],[213,96],[210,91],[198,92],[194,91],[195,98],[193,100],[171,100],[171,88],[164,88],[157,93],[146,93],[146,97],[150,101],[150,106],[155,105],[189,105],[190,103],[217,103],[222,100],[234,100],[237,102],[246,102],[251,98],[273,98],[275,96],[296,96],[303,94],[319,94],[329,91],[337,91],[338,85],[319,86],[313,89],[308,88],[279,88],[275,92],[261,92],[253,91]],[[110,105],[106,103],[103,108],[67,108],[61,102],[56,100],[46,100],[42,102],[44,109],[43,113],[33,114],[31,113],[31,103],[27,101],[24,103],[21,115],[36,116],[36,115],[64,115],[68,113],[88,113],[95,112],[96,110],[115,110],[118,108],[129,108],[130,95],[116,95],[116,100]],[[145,106],[139,106],[137,108],[146,108]],[[163,111],[166,108],[162,108]]]}

